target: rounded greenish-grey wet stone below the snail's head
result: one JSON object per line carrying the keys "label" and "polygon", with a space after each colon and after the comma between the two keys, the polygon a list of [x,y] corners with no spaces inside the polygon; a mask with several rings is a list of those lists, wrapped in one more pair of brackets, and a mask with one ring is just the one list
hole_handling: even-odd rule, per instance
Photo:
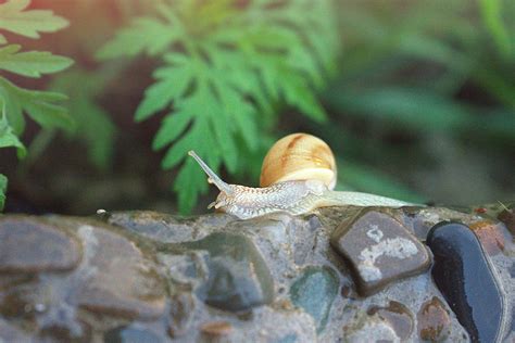
{"label": "rounded greenish-grey wet stone below the snail's head", "polygon": [[209,278],[198,290],[206,304],[226,310],[247,310],[274,300],[272,275],[249,238],[216,232],[183,245],[210,253]]}

